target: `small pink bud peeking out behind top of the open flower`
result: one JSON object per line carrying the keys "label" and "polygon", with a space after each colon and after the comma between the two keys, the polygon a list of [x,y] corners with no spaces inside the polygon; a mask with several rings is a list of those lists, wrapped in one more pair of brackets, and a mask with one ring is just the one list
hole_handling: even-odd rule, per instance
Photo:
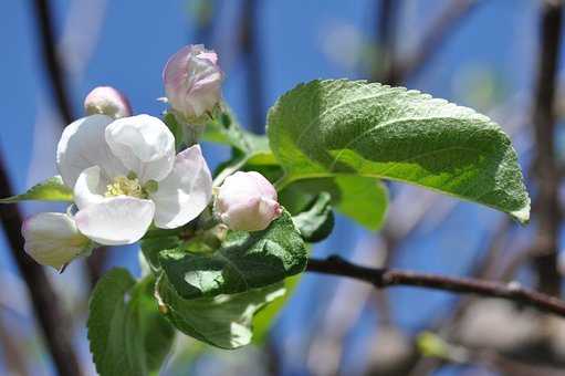
{"label": "small pink bud peeking out behind top of the open flower", "polygon": [[86,95],[84,109],[87,115],[103,114],[113,118],[132,116],[127,98],[111,86],[98,86]]}

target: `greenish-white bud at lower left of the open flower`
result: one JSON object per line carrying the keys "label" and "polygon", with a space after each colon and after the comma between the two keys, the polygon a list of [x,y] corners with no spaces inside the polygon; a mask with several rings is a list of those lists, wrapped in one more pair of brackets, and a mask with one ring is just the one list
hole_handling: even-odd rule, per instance
{"label": "greenish-white bud at lower left of the open flower", "polygon": [[56,270],[92,248],[74,220],[61,212],[41,212],[28,218],[22,226],[22,236],[25,252],[40,264]]}

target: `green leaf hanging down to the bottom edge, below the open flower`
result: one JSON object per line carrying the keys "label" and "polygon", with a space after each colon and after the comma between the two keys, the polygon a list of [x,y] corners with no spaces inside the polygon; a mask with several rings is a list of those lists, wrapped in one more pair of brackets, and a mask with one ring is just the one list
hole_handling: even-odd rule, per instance
{"label": "green leaf hanging down to the bottom edge, below the open flower", "polygon": [[136,281],[113,269],[96,284],[90,302],[88,341],[100,375],[148,375],[160,368],[174,330],[157,310],[154,278]]}

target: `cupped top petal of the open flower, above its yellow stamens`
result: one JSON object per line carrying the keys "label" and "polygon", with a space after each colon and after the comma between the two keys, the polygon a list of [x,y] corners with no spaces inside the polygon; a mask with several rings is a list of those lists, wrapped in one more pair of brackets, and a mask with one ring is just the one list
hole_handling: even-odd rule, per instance
{"label": "cupped top petal of the open flower, above its yellow stamens", "polygon": [[142,184],[163,180],[175,163],[175,137],[157,117],[137,115],[123,117],[106,128],[112,153]]}

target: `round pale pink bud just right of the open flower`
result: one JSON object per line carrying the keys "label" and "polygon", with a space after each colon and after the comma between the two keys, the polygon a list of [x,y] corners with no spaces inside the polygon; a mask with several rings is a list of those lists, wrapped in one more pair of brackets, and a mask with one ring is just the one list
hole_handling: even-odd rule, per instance
{"label": "round pale pink bud just right of the open flower", "polygon": [[282,207],[273,185],[261,174],[239,171],[220,187],[216,211],[232,230],[260,231],[281,215]]}

